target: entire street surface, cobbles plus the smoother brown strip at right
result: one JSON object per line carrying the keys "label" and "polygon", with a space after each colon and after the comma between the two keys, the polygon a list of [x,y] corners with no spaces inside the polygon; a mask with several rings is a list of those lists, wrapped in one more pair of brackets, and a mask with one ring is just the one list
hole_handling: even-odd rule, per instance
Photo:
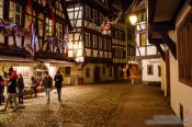
{"label": "entire street surface, cobbles plus the smoother brown strip at right", "polygon": [[61,103],[56,91],[50,100],[41,93],[1,112],[0,127],[143,127],[154,115],[173,114],[159,88],[126,82],[65,86]]}

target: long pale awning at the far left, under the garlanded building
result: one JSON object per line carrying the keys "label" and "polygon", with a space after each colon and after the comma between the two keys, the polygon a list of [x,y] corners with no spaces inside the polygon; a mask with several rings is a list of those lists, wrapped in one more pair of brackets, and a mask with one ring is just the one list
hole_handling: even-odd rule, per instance
{"label": "long pale awning at the far left, under the garlanded building", "polygon": [[31,67],[36,66],[35,60],[33,59],[25,59],[21,57],[14,57],[14,56],[2,56],[0,55],[0,66],[23,66],[23,67]]}

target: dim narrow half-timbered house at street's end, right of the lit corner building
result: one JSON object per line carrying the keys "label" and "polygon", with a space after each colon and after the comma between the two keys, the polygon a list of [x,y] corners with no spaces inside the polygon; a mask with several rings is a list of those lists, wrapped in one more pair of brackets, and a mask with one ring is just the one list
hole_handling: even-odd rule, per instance
{"label": "dim narrow half-timbered house at street's end, right of the lit corner building", "polygon": [[[112,11],[123,12],[121,1],[114,0]],[[115,19],[113,19],[115,20]],[[112,57],[114,79],[122,79],[123,68],[127,65],[127,42],[125,39],[125,15],[122,15],[112,27]]]}

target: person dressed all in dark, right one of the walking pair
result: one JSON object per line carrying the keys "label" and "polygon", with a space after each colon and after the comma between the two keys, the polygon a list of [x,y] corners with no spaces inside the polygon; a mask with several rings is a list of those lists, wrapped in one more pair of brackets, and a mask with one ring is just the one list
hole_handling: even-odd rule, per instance
{"label": "person dressed all in dark, right one of the walking pair", "polygon": [[57,73],[55,74],[54,81],[55,81],[55,88],[57,89],[58,101],[61,102],[60,96],[61,96],[63,76],[60,74],[59,71],[57,71]]}

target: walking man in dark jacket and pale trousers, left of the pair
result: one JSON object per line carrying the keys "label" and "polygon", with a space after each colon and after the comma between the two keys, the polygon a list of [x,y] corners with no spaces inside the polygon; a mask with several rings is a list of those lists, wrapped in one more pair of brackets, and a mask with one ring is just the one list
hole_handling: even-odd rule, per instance
{"label": "walking man in dark jacket and pale trousers, left of the pair", "polygon": [[53,88],[53,79],[48,74],[48,71],[45,71],[45,78],[43,79],[43,85],[45,88],[47,104],[49,104],[49,102],[50,102],[50,91],[52,91],[52,88]]}

